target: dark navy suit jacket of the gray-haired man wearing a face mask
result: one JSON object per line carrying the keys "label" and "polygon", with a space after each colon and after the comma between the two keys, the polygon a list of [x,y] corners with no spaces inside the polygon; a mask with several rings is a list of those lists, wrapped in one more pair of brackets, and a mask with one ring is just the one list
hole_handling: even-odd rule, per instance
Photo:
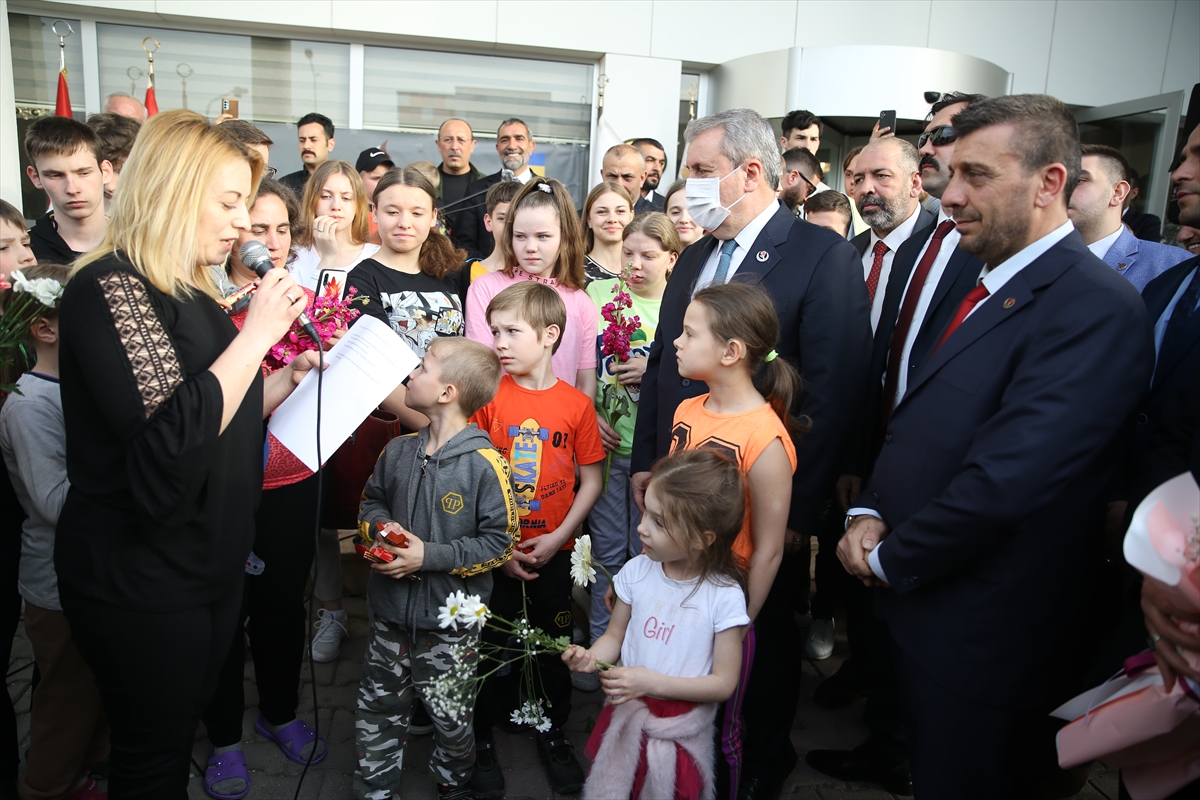
{"label": "dark navy suit jacket of the gray-haired man wearing a face mask", "polygon": [[[673,342],[683,331],[696,277],[716,246],[708,235],[688,247],[667,282],[642,378],[634,471],[649,469],[655,458],[668,452],[679,403],[708,391],[703,381],[679,377]],[[760,259],[760,254],[764,255]],[[734,276],[737,281],[755,278],[779,312],[775,349],[804,378],[796,410],[812,420],[812,429],[797,443],[799,465],[787,524],[815,533],[865,392],[871,325],[862,263],[845,239],[797,219],[780,205]]]}

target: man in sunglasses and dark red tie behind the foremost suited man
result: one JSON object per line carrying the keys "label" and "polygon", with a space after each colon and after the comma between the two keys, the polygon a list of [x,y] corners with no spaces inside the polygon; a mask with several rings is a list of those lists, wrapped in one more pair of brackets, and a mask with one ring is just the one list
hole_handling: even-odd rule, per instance
{"label": "man in sunglasses and dark red tie behind the foremost suited man", "polygon": [[[934,103],[925,131],[918,138],[922,187],[941,199],[950,182],[954,155],[954,118],[983,95],[947,92]],[[857,164],[856,164],[857,169]],[[907,378],[931,350],[937,335],[947,326],[962,299],[974,288],[983,263],[959,249],[959,234],[944,209],[937,218],[918,225],[892,261],[892,275],[875,331],[871,353],[874,391],[858,429],[863,435],[851,447],[838,481],[838,500],[844,511],[862,491],[875,459],[883,447],[884,408],[888,415],[904,397]],[[882,391],[880,391],[882,389]],[[840,528],[841,525],[839,525]],[[839,531],[840,533],[840,531]],[[838,567],[832,548],[817,552],[817,585]],[[827,553],[822,559],[822,553]],[[805,760],[814,769],[842,781],[870,781],[890,792],[911,793],[907,746],[901,732],[900,698],[892,662],[892,639],[887,626],[871,612],[872,594],[856,581],[844,581],[851,657],[817,686],[814,702],[823,708],[842,708],[866,694],[863,721],[869,728],[865,742],[853,750],[814,750]]]}

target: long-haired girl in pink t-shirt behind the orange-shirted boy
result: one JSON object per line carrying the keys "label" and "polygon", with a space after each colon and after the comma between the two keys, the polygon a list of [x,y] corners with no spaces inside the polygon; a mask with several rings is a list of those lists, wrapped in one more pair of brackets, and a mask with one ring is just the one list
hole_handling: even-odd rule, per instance
{"label": "long-haired girl in pink t-shirt behind the orange-shirted boy", "polygon": [[566,305],[562,343],[551,359],[554,377],[593,397],[599,312],[583,291],[583,237],[566,187],[542,178],[526,184],[512,198],[496,242],[504,267],[479,277],[467,290],[467,338],[492,345],[487,303],[514,283],[538,281],[553,287]]}

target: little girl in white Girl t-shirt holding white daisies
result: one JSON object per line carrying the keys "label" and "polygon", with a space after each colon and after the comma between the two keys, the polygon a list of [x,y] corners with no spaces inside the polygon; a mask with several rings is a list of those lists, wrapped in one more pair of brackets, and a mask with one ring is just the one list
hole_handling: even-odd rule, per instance
{"label": "little girl in white Girl t-shirt holding white daisies", "polygon": [[584,798],[715,794],[713,722],[742,673],[746,577],[733,554],[745,515],[738,465],[708,449],[660,461],[638,525],[643,553],[613,578],[608,630],[563,661],[590,673],[608,703],[588,740]]}

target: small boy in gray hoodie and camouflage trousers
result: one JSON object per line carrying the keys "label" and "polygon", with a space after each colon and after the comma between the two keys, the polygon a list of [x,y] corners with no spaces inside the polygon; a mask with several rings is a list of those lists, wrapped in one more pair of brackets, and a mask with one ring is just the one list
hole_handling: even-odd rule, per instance
{"label": "small boy in gray hoodie and camouflage trousers", "polygon": [[[461,337],[434,339],[409,375],[406,395],[408,407],[430,425],[392,439],[362,491],[360,530],[395,558],[373,564],[367,583],[371,638],[355,720],[355,798],[400,796],[418,700],[433,721],[430,771],[439,799],[472,796],[470,714],[438,714],[428,688],[450,667],[451,649],[479,644],[475,630],[440,628],[438,609],[455,591],[488,602],[490,570],[509,560],[521,537],[509,464],[468,422],[491,402],[499,381],[500,362],[490,348]],[[377,523],[402,534],[406,545],[378,536]]]}

